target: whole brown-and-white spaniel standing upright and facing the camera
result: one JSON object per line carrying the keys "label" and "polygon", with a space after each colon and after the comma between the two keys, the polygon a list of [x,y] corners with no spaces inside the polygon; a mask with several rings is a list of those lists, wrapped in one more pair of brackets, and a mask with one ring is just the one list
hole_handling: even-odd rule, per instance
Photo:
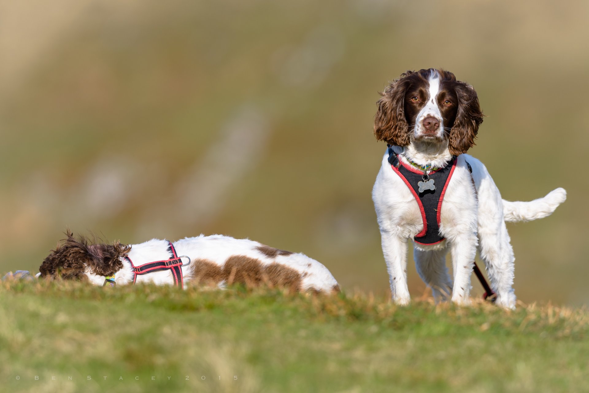
{"label": "whole brown-and-white spaniel standing upright and facing the camera", "polygon": [[[477,246],[496,302],[515,308],[514,253],[505,221],[550,215],[564,189],[531,202],[508,202],[487,168],[465,154],[483,114],[471,85],[444,70],[407,71],[378,100],[374,133],[389,148],[372,190],[393,300],[409,303],[407,240],[421,279],[436,299],[469,303]],[[446,268],[452,256],[454,283]]]}

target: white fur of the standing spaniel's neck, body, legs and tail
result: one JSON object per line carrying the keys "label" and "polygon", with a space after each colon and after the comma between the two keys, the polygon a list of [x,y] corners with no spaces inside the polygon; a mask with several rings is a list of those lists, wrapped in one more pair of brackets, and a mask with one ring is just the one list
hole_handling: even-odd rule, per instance
{"label": "white fur of the standing spaniel's neck, body, legs and tail", "polygon": [[[419,164],[445,166],[451,155],[447,144],[443,145],[432,145],[428,149],[412,142],[405,148],[393,148],[402,160],[408,161],[409,158]],[[498,305],[515,308],[512,288],[514,254],[505,220],[533,220],[548,216],[558,204],[564,202],[566,192],[564,189],[556,189],[546,197],[532,202],[507,202],[501,199],[501,193],[481,161],[468,154],[461,154],[457,159],[440,217],[439,232],[446,240],[432,246],[415,243],[414,256],[419,276],[432,288],[436,299],[448,297],[449,288],[452,288],[451,300],[467,304],[472,264],[478,245],[479,253],[487,266],[491,288],[497,293]],[[472,175],[467,169],[466,161],[472,167]],[[406,278],[407,241],[421,232],[423,222],[415,198],[392,170],[387,153],[382,158],[372,199],[378,217],[393,300],[405,305],[410,300]],[[449,277],[445,266],[448,250],[452,256],[454,280]]]}

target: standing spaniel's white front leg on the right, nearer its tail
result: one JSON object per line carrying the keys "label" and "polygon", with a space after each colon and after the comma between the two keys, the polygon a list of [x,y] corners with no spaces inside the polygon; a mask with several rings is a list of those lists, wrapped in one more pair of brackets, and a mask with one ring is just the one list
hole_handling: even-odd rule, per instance
{"label": "standing spaniel's white front leg on the right, nearer its tail", "polygon": [[452,270],[454,270],[454,289],[452,302],[468,305],[471,300],[472,264],[477,255],[477,233],[460,233],[451,240]]}

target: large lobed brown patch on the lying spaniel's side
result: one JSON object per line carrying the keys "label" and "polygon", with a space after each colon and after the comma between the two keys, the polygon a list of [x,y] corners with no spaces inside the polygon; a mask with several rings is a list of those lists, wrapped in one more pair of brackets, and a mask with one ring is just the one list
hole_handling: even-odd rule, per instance
{"label": "large lobed brown patch on the lying spaniel's side", "polygon": [[222,281],[231,285],[242,283],[247,286],[269,285],[286,288],[293,292],[300,290],[302,275],[292,267],[281,263],[263,265],[259,259],[245,255],[229,257],[223,266],[205,259],[191,263],[191,275],[195,282],[218,284]]}

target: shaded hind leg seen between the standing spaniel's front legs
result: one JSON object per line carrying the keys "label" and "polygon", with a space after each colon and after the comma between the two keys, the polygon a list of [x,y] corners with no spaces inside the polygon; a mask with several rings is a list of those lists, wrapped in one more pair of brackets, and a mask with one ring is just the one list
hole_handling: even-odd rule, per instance
{"label": "shaded hind leg seen between the standing spaniel's front legs", "polygon": [[437,250],[413,249],[419,277],[432,289],[436,302],[447,300],[452,293],[452,279],[446,267],[446,247]]}

